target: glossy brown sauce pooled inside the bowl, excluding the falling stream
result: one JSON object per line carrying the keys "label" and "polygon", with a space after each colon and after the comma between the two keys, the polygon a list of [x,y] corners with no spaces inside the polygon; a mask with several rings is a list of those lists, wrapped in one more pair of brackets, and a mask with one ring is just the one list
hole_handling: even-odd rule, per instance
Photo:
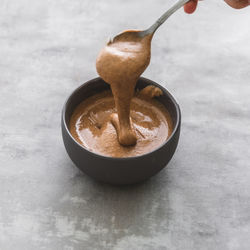
{"label": "glossy brown sauce pooled inside the bowl, excluding the falling stream", "polygon": [[111,157],[131,157],[151,152],[162,145],[172,133],[172,121],[166,108],[154,96],[161,90],[148,86],[131,100],[130,117],[137,143],[122,146],[117,140],[111,115],[116,107],[111,91],[93,95],[75,109],[70,132],[85,148]]}

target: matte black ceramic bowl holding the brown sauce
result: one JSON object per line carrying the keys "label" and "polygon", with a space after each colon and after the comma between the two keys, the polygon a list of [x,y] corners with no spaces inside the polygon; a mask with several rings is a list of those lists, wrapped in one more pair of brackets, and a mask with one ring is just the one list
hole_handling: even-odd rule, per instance
{"label": "matte black ceramic bowl holding the brown sauce", "polygon": [[165,105],[171,115],[173,132],[160,147],[136,157],[113,158],[90,152],[79,144],[69,131],[70,117],[76,106],[89,96],[109,89],[107,83],[101,78],[95,78],[81,85],[69,96],[62,111],[63,141],[69,157],[85,174],[110,184],[133,184],[155,175],[171,160],[180,135],[180,108],[166,89],[151,80],[141,77],[136,88],[142,89],[148,85],[157,86],[163,91],[163,95],[157,98]]}

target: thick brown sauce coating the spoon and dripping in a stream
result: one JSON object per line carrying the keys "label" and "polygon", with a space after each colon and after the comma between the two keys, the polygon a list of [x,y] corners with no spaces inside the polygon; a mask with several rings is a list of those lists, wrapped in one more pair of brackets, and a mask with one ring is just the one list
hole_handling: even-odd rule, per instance
{"label": "thick brown sauce coating the spoon and dripping in a stream", "polygon": [[101,78],[110,84],[117,114],[111,121],[116,128],[119,143],[124,146],[136,143],[136,133],[130,122],[130,102],[136,82],[150,62],[152,35],[143,38],[138,31],[125,31],[108,43],[100,52],[96,69]]}

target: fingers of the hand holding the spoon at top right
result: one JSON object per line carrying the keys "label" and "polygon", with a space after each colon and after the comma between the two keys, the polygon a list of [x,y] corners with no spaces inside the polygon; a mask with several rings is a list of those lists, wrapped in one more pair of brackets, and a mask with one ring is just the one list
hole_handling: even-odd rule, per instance
{"label": "fingers of the hand holding the spoon at top right", "polygon": [[[228,5],[235,9],[245,8],[250,5],[250,0],[224,0]],[[198,0],[191,0],[184,5],[184,11],[188,14],[196,10]]]}

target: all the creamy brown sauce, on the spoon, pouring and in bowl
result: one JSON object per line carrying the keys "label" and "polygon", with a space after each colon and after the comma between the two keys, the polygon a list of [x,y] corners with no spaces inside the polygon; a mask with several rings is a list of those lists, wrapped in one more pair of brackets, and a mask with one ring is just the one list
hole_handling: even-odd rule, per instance
{"label": "all the creamy brown sauce, on the spoon, pouring and in bowl", "polygon": [[151,152],[172,132],[166,108],[154,99],[162,91],[148,86],[135,95],[136,82],[147,68],[152,35],[125,31],[109,42],[96,60],[111,91],[83,101],[70,120],[70,132],[88,150],[111,157]]}

